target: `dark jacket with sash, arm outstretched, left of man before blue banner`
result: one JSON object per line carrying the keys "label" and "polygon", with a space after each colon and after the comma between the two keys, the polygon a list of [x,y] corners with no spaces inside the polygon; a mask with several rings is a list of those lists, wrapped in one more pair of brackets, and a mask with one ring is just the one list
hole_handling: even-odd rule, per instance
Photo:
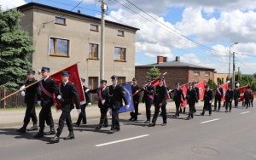
{"label": "dark jacket with sash, arm outstretched, left of man before blue banner", "polygon": [[[105,87],[103,90],[102,88],[93,89],[89,91],[90,93],[96,93],[98,95],[98,106],[99,108],[108,108],[108,87]],[[105,100],[104,105],[102,105],[102,100],[100,99],[100,94],[102,95],[102,100]]]}

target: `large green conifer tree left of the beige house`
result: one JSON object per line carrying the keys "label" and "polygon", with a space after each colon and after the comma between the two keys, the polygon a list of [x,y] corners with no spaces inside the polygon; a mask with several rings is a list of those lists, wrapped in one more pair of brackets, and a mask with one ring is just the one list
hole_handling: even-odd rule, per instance
{"label": "large green conifer tree left of the beige house", "polygon": [[33,52],[32,37],[20,28],[22,16],[17,9],[0,9],[0,87],[7,89],[18,89],[32,67],[28,60]]}

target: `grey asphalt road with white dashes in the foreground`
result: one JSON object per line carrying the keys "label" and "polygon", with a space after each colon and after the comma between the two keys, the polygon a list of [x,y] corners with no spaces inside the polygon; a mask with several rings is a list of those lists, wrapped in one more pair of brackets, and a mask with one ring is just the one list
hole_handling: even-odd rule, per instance
{"label": "grey asphalt road with white dashes in the foreground", "polygon": [[[166,126],[160,125],[159,117],[152,128],[143,123],[144,115],[138,122],[121,117],[121,130],[114,134],[107,134],[109,127],[96,131],[98,120],[89,120],[74,128],[74,140],[61,139],[58,144],[49,144],[51,136],[35,140],[35,132],[0,129],[0,159],[256,159],[255,107],[233,108],[230,113],[222,107],[222,112],[212,112],[212,116],[200,116],[197,111],[189,121],[184,120],[185,114],[174,118],[168,113]],[[61,137],[67,134],[65,127]]]}

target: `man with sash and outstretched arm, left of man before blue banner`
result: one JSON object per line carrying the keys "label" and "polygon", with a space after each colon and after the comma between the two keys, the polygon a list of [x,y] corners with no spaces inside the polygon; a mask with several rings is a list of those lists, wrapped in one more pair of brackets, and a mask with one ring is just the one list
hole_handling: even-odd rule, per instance
{"label": "man with sash and outstretched arm, left of man before blue banner", "polygon": [[[107,83],[106,80],[102,80],[101,83]],[[98,95],[98,106],[101,111],[100,123],[96,129],[101,129],[103,127],[108,127],[108,87],[93,89],[89,91],[90,93],[97,93]]]}

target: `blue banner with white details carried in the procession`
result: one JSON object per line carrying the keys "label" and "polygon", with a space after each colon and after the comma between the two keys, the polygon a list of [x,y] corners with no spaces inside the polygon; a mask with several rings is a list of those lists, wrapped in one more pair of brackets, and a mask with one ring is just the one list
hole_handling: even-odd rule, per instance
{"label": "blue banner with white details carried in the procession", "polygon": [[129,108],[126,108],[125,106],[121,106],[119,108],[119,113],[134,110],[132,92],[131,92],[131,83],[125,83],[122,85],[122,87],[125,89],[125,97],[129,104]]}

